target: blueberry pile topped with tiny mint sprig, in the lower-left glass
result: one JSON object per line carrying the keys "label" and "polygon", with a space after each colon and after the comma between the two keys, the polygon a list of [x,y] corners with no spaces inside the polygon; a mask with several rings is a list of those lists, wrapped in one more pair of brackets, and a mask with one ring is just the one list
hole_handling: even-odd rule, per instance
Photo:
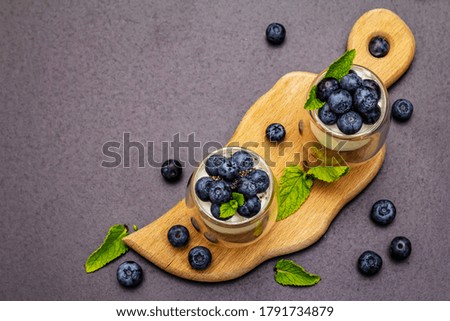
{"label": "blueberry pile topped with tiny mint sprig, in the lower-left glass", "polygon": [[[232,198],[232,193],[241,193],[245,202],[239,206],[239,215],[250,218],[261,209],[259,193],[269,187],[269,176],[260,169],[254,168],[253,157],[244,150],[235,152],[227,158],[212,155],[205,162],[205,170],[209,176],[200,178],[195,183],[195,194],[204,202],[211,202],[211,214],[219,220],[220,206]],[[227,218],[229,219],[229,218]]]}

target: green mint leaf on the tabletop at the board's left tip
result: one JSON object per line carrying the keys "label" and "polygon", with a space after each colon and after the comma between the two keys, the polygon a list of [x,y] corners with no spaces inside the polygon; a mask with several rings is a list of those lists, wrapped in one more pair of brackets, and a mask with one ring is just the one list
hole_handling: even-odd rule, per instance
{"label": "green mint leaf on the tabletop at the board's left tip", "polygon": [[128,251],[128,247],[122,239],[128,235],[128,228],[123,224],[110,227],[102,245],[96,249],[87,259],[85,268],[87,273],[97,271],[112,260]]}

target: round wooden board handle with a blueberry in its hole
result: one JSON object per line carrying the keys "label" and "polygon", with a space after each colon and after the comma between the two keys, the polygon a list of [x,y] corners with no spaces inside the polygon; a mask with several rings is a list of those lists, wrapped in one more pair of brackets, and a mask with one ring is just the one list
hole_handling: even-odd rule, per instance
{"label": "round wooden board handle with a blueberry in its hole", "polygon": [[[389,53],[385,57],[376,58],[369,52],[369,42],[375,36],[389,42]],[[389,88],[411,65],[416,42],[411,29],[399,16],[387,9],[373,9],[356,21],[347,49],[356,49],[354,63],[372,70]]]}

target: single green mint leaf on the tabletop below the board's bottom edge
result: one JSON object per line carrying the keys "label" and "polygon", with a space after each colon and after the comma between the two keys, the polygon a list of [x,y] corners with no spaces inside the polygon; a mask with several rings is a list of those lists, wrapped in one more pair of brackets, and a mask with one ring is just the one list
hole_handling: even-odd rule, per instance
{"label": "single green mint leaf on the tabletop below the board's bottom edge", "polygon": [[278,261],[275,271],[275,281],[281,285],[312,286],[320,281],[319,275],[307,272],[291,260]]}

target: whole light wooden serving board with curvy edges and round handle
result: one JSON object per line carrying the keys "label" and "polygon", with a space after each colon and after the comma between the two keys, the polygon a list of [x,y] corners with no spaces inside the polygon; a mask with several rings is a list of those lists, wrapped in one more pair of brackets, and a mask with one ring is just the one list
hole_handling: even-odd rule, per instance
{"label": "whole light wooden serving board with curvy edges and round handle", "polygon": [[[384,58],[374,58],[368,51],[370,39],[377,35],[385,37],[390,44],[390,51]],[[415,41],[411,30],[396,14],[386,9],[375,9],[366,12],[355,23],[347,48],[356,49],[355,64],[374,71],[388,87],[411,64]],[[324,62],[324,68],[329,63],[331,61]],[[230,139],[240,146],[246,142],[264,142],[265,129],[270,123],[283,124],[287,131],[285,142],[290,142],[284,146],[284,156],[279,155],[280,146],[270,149],[270,160],[275,162],[271,168],[277,179],[286,164],[294,161],[294,154],[302,150],[303,144],[314,141],[308,130],[301,134],[298,126],[301,120],[305,126],[308,124],[309,115],[303,105],[315,77],[316,74],[309,72],[291,72],[283,76],[247,111]],[[249,148],[263,156],[264,147],[258,145]],[[326,184],[316,181],[310,197],[297,213],[275,223],[267,235],[250,245],[227,248],[206,240],[192,226],[192,209],[186,207],[184,200],[124,241],[160,268],[182,278],[204,282],[237,278],[267,259],[299,251],[319,240],[339,210],[376,176],[385,150],[383,147],[365,163],[350,165],[349,173],[338,182]],[[173,248],[167,241],[167,231],[175,224],[189,229],[191,240],[184,249]],[[193,270],[187,260],[189,250],[197,245],[208,247],[213,256],[211,265],[204,271]]]}

